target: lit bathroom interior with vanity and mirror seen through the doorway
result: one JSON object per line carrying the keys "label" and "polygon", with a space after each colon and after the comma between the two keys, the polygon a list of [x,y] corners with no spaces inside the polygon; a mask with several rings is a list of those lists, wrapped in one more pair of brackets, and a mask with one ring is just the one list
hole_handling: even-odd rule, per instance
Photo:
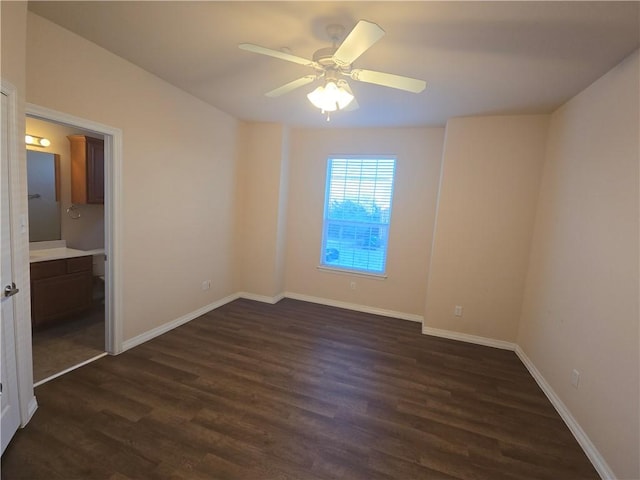
{"label": "lit bathroom interior with vanity and mirror seen through the doorway", "polygon": [[[102,135],[75,127],[27,117],[26,134],[35,142],[27,145],[27,193],[39,385],[105,352],[104,154]],[[81,171],[84,152],[92,161]],[[93,183],[80,188],[79,177]]]}

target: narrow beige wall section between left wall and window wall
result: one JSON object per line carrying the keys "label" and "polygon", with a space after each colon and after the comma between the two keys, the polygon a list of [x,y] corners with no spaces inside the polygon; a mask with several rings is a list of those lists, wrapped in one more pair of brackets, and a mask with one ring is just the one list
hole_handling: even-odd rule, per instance
{"label": "narrow beige wall section between left wall and window wall", "polygon": [[239,285],[259,297],[276,297],[284,287],[286,141],[286,128],[280,124],[243,124],[238,159]]}

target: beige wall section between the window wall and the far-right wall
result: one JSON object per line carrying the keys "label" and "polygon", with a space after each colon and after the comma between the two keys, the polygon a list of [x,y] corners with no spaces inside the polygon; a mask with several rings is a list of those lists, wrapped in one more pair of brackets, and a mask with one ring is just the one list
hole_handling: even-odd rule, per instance
{"label": "beige wall section between the window wall and the far-right wall", "polygon": [[546,115],[447,123],[425,327],[515,341],[547,124]]}

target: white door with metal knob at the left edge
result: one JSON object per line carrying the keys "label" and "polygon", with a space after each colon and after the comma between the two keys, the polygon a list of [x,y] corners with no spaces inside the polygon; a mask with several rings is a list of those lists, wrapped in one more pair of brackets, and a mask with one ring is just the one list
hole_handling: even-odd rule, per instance
{"label": "white door with metal knob at the left edge", "polygon": [[16,365],[14,316],[13,316],[13,295],[17,293],[17,288],[12,279],[12,259],[11,259],[11,195],[9,188],[9,107],[7,96],[2,97],[2,168],[0,169],[0,194],[2,200],[2,222],[0,223],[0,237],[2,246],[0,248],[0,349],[2,350],[0,361],[0,403],[1,403],[1,423],[0,437],[2,439],[2,452],[9,444],[9,441],[20,426],[20,412],[18,410],[18,377]]}

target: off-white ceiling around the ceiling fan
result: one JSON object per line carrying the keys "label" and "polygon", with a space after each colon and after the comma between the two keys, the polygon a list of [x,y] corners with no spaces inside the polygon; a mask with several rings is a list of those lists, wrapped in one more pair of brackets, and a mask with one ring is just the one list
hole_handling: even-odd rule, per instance
{"label": "off-white ceiling around the ceiling fan", "polygon": [[240,50],[255,43],[311,58],[326,26],[359,19],[386,35],[354,64],[426,80],[412,94],[350,81],[360,108],[330,126],[444,125],[447,118],[548,113],[640,45],[640,2],[29,2],[29,9],[243,120],[323,126],[313,70]]}

